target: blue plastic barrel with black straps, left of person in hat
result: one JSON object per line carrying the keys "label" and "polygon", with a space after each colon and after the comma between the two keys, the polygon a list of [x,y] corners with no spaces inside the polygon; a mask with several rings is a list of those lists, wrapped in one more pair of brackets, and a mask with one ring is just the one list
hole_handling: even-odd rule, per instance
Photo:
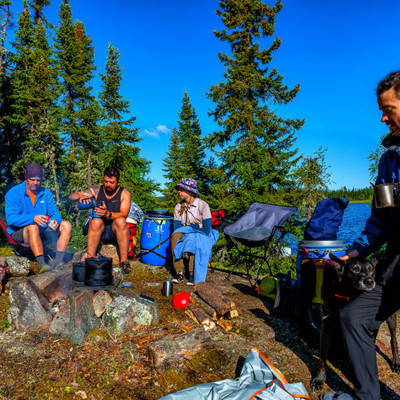
{"label": "blue plastic barrel with black straps, left of person in hat", "polygon": [[164,210],[147,211],[140,238],[140,257],[144,264],[167,265],[172,259],[172,213]]}

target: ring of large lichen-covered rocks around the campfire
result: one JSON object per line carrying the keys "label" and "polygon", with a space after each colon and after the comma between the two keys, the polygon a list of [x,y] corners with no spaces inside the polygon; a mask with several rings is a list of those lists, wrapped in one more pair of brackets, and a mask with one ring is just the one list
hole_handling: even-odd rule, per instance
{"label": "ring of large lichen-covered rocks around the campfire", "polygon": [[73,344],[97,327],[121,334],[160,320],[157,304],[130,290],[75,290],[70,268],[12,282],[10,303],[8,321],[17,329],[48,329]]}

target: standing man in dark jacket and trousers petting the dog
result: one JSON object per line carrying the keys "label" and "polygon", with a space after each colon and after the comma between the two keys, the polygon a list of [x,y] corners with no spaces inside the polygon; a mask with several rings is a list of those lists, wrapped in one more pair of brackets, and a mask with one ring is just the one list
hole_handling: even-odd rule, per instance
{"label": "standing man in dark jacket and trousers petting the dog", "polygon": [[[400,183],[400,71],[387,75],[377,88],[381,122],[390,129],[382,144],[387,151],[379,161],[376,184]],[[362,292],[340,313],[342,333],[354,370],[355,396],[326,393],[322,400],[380,400],[375,337],[378,328],[400,309],[400,207],[372,206],[361,237],[341,257],[365,258],[386,246],[386,259],[377,265],[377,284]]]}

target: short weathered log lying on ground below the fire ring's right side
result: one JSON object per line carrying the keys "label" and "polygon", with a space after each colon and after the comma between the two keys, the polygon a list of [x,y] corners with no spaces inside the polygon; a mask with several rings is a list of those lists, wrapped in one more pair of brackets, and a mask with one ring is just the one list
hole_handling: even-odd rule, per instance
{"label": "short weathered log lying on ground below the fire ring's right side", "polygon": [[165,336],[152,343],[148,349],[153,366],[165,371],[168,368],[179,367],[186,360],[210,347],[210,334],[203,328],[198,328],[190,332]]}

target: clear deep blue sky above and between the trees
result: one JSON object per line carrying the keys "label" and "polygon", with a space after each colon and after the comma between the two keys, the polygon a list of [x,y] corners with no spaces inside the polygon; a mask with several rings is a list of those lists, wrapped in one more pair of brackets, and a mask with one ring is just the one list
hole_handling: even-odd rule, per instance
{"label": "clear deep blue sky above and between the trees", "polygon": [[[58,23],[59,1],[46,15]],[[163,182],[162,160],[177,126],[187,90],[203,134],[217,127],[207,113],[211,85],[223,80],[218,52],[226,45],[214,0],[70,0],[73,18],[93,39],[97,73],[104,71],[108,43],[121,52],[121,93],[130,101],[143,141],[141,154],[152,162],[151,177]],[[268,5],[272,2],[267,1]],[[304,118],[298,132],[300,153],[328,148],[332,188],[369,185],[368,154],[386,133],[376,105],[377,82],[400,68],[398,0],[287,0],[277,16],[282,46],[272,66],[293,87],[296,99],[278,113]],[[22,1],[14,0],[15,20]],[[265,45],[270,39],[264,40]],[[100,90],[100,79],[93,85]]]}

